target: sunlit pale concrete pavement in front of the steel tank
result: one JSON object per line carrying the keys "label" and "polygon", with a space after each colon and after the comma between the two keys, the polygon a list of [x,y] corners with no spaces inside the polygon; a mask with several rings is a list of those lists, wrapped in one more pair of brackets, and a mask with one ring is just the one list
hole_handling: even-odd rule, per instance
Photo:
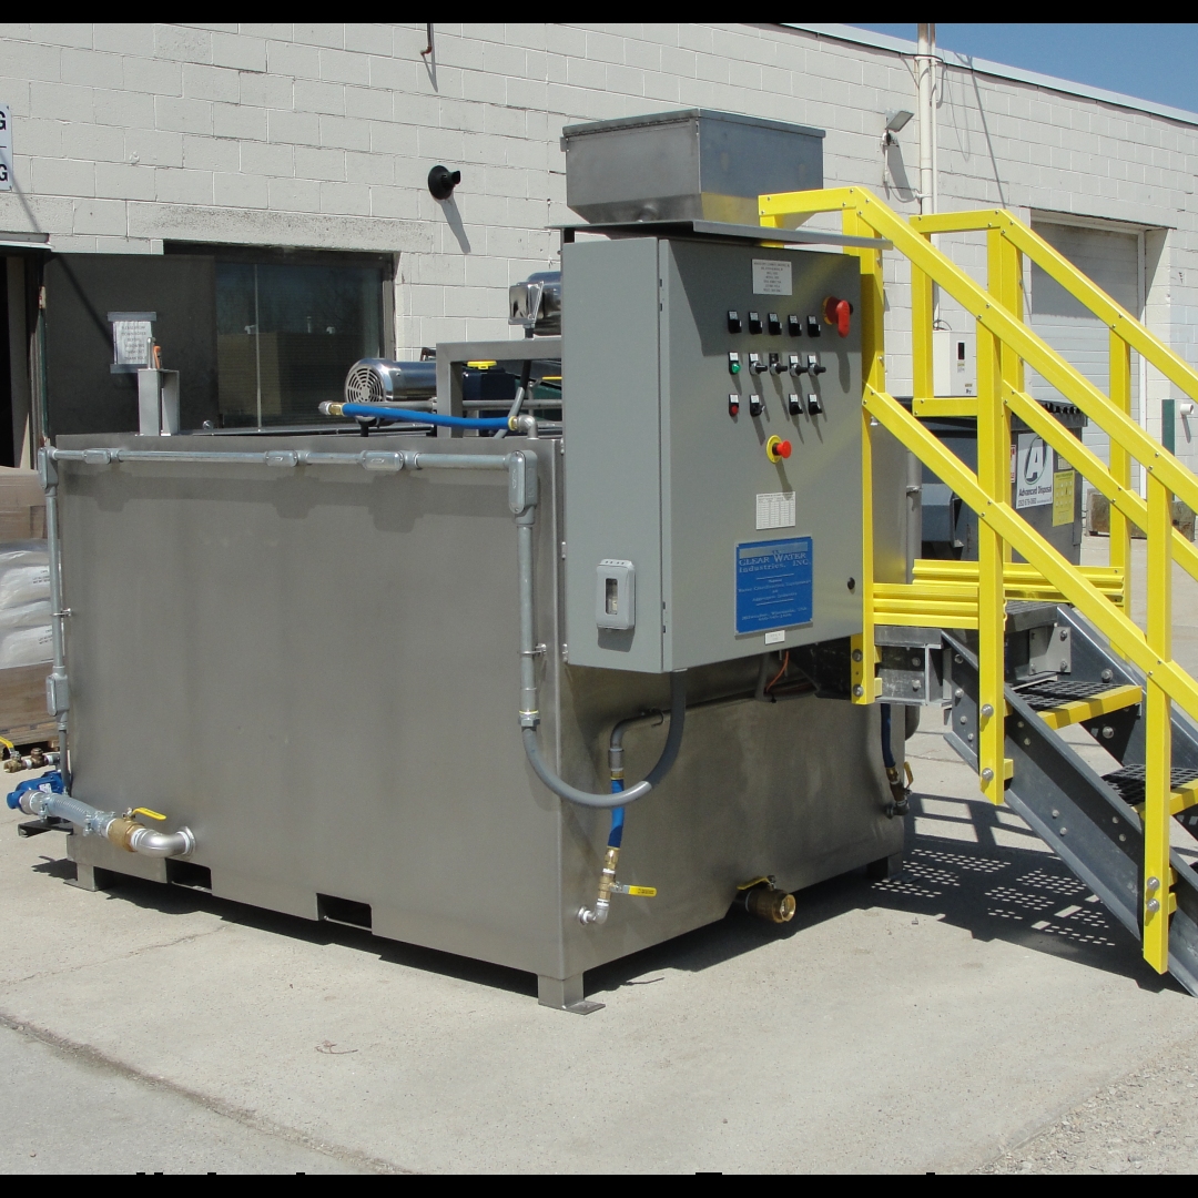
{"label": "sunlit pale concrete pavement in front of the steel tank", "polygon": [[[1198,595],[1176,609],[1198,634]],[[0,1058],[36,1117],[2,1167],[944,1172],[1022,1167],[1004,1154],[1154,1063],[1192,1096],[1198,1003],[937,732],[913,742],[900,878],[595,970],[586,1018],[350,928],[73,889],[62,839],[18,840],[6,811],[0,1019],[22,1030]]]}

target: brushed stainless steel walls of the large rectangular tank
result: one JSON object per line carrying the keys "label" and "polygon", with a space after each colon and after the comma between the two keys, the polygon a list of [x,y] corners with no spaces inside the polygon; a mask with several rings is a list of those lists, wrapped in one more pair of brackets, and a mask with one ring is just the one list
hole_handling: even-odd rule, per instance
{"label": "brushed stainless steel walls of the large rectangular tank", "polygon": [[[114,443],[158,447],[63,447]],[[537,637],[550,646],[557,446],[537,446]],[[317,893],[351,898],[371,906],[380,936],[565,978],[720,918],[737,882],[807,885],[901,847],[875,710],[716,702],[690,713],[674,774],[629,812],[621,872],[660,900],[617,898],[606,927],[583,928],[607,819],[558,803],[521,751],[502,473],[60,468],[75,793],[192,827],[218,895],[307,918]],[[667,683],[543,660],[546,756],[574,785],[605,788],[612,722],[662,704]],[[695,670],[691,697],[744,696],[756,674],[756,660]],[[661,737],[629,734],[630,779]],[[114,867],[105,847],[80,841],[72,855]]]}

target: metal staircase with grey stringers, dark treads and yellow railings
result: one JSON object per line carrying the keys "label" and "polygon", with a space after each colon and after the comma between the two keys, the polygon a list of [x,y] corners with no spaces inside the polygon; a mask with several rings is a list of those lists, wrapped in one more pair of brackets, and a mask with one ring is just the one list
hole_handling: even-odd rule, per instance
{"label": "metal staircase with grey stringers, dark treads and yellow railings", "polygon": [[[1198,398],[1198,371],[1009,212],[904,219],[865,188],[758,198],[761,223],[786,228],[840,212],[845,231],[873,236],[910,267],[913,399],[887,389],[882,250],[854,248],[861,272],[863,633],[853,639],[855,703],[913,691],[948,695],[946,739],[1090,885],[1158,973],[1198,994],[1198,871],[1170,847],[1175,817],[1198,804],[1198,682],[1173,658],[1173,564],[1198,579],[1198,549],[1173,527],[1172,501],[1198,509],[1198,478],[1131,419],[1131,352]],[[982,286],[932,243],[982,232]],[[1023,320],[1029,258],[1111,329],[1103,394]],[[978,395],[938,399],[932,386],[933,285],[976,321]],[[1024,364],[1111,440],[1109,466],[1025,391]],[[1011,417],[1018,416],[1111,501],[1106,567],[1067,562],[1011,502]],[[975,417],[978,468],[920,417]],[[978,514],[976,562],[916,562],[906,583],[872,576],[872,436],[884,428]],[[1145,495],[1132,490],[1131,465]],[[1130,618],[1130,527],[1148,538],[1148,621]],[[1023,563],[1014,562],[1015,553]],[[1046,631],[1047,630],[1047,631]],[[1061,736],[1081,725],[1119,762],[1100,775]],[[1193,818],[1192,816],[1190,818]]]}

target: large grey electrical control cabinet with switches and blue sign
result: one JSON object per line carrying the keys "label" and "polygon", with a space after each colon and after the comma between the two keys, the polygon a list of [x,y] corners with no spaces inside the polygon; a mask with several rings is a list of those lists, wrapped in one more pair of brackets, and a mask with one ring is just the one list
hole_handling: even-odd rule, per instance
{"label": "large grey electrical control cabinet with switches and blue sign", "polygon": [[567,659],[661,673],[859,633],[858,260],[634,236],[562,270]]}

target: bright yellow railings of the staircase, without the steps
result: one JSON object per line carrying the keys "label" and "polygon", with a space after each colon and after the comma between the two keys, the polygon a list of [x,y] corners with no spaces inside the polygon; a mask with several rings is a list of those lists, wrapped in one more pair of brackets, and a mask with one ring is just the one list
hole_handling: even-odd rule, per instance
{"label": "bright yellow railings of the staircase, without the steps", "polygon": [[[841,212],[845,232],[877,236],[910,262],[913,405],[908,412],[887,391],[882,252],[847,250],[861,271],[861,373],[864,382],[864,621],[853,643],[854,702],[877,696],[873,627],[922,623],[976,628],[979,642],[978,768],[982,793],[1002,803],[1011,762],[1004,757],[1004,634],[1006,599],[1029,593],[1075,605],[1112,648],[1146,678],[1143,951],[1158,972],[1168,967],[1172,781],[1170,704],[1198,719],[1198,683],[1173,660],[1172,563],[1198,577],[1198,550],[1173,527],[1170,500],[1198,509],[1198,478],[1131,418],[1131,350],[1136,350],[1185,394],[1198,398],[1198,373],[1174,355],[1130,313],[1096,288],[1046,241],[1004,211],[954,212],[903,219],[861,187],[762,195],[762,225],[786,228],[817,212]],[[932,246],[938,232],[985,231],[987,286],[982,288]],[[1051,349],[1024,322],[1022,256],[1027,255],[1111,329],[1111,394]],[[932,386],[932,286],[942,288],[976,321],[978,397],[938,400]],[[1109,468],[1024,389],[1024,364],[1036,370],[1111,438]],[[951,409],[951,411],[950,411]],[[1087,569],[1066,562],[1011,504],[1011,415],[1111,501],[1111,564]],[[969,470],[916,417],[976,415],[978,470]],[[872,576],[871,425],[877,422],[910,449],[978,513],[976,563],[926,563],[909,586],[875,585]],[[1131,462],[1148,477],[1148,500],[1131,489]],[[1130,524],[1148,536],[1148,629],[1132,623],[1129,597]],[[1012,549],[1027,565],[1011,562]],[[957,567],[957,573],[949,567]],[[939,568],[939,570],[937,570]],[[1064,720],[1065,716],[1063,715]],[[1156,883],[1152,885],[1152,883]]]}

